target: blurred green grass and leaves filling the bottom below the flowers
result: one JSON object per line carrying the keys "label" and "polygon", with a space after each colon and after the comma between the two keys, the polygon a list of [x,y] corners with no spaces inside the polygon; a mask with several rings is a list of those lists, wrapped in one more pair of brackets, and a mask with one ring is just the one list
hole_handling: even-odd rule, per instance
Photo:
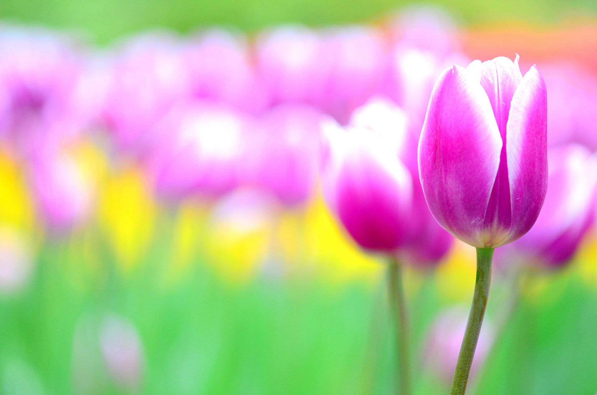
{"label": "blurred green grass and leaves filling the bottom below the flowers", "polygon": [[[129,274],[115,269],[103,248],[98,252],[103,267],[94,275],[76,248],[46,245],[29,288],[0,303],[0,369],[28,365],[45,393],[70,393],[76,325],[81,317],[112,311],[139,331],[146,358],[143,393],[392,392],[383,285],[338,288],[302,275],[230,285],[201,257],[179,282],[164,285],[165,243],[155,243],[149,258]],[[427,276],[409,298],[420,395],[447,392],[418,357],[430,323],[447,305],[437,281]],[[490,316],[503,307],[504,288],[494,285]],[[506,328],[479,394],[595,393],[597,292],[576,272],[553,276],[540,294],[524,298]],[[7,388],[7,377],[26,388],[31,379],[21,376],[0,375],[0,388]],[[109,386],[101,393],[118,391]]]}

